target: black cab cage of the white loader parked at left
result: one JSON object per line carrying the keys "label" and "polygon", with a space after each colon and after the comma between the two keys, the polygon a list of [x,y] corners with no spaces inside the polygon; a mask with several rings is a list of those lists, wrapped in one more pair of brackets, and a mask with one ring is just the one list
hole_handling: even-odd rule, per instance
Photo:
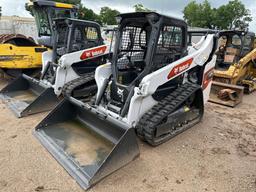
{"label": "black cab cage of the white loader parked at left", "polygon": [[[53,53],[62,55],[103,45],[100,25],[91,21],[59,18],[53,20]],[[56,61],[55,61],[56,62]]]}

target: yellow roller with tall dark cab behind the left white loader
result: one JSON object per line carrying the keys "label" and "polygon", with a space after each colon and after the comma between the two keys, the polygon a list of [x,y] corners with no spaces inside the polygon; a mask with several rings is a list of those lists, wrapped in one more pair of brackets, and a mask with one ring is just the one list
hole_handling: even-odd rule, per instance
{"label": "yellow roller with tall dark cab behind the left white loader", "polygon": [[41,71],[42,53],[52,48],[52,23],[57,17],[76,18],[77,7],[45,0],[30,0],[26,9],[35,18],[38,44],[21,34],[0,35],[0,69],[16,78],[22,73],[35,75]]}

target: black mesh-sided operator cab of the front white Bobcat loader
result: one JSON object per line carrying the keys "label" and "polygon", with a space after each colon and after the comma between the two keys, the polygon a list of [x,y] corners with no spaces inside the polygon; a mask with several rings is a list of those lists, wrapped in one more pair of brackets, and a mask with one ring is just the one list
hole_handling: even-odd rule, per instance
{"label": "black mesh-sided operator cab of the front white Bobcat loader", "polygon": [[[110,102],[125,110],[125,102],[145,76],[187,55],[187,24],[155,12],[121,14],[117,20]],[[172,84],[177,86],[174,81],[163,85],[156,97],[167,95]]]}

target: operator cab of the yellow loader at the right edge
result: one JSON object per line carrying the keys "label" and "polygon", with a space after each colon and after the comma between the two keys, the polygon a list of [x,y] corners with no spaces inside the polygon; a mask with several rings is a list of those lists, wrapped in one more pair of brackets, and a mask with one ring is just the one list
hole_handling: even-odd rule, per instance
{"label": "operator cab of the yellow loader at the right edge", "polygon": [[221,31],[216,52],[217,70],[227,70],[253,50],[255,34],[245,31]]}

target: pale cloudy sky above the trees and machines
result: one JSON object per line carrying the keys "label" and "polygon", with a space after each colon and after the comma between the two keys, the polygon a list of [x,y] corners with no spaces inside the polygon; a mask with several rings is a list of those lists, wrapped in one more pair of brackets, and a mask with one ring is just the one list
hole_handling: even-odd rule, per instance
{"label": "pale cloudy sky above the trees and machines", "polygon": [[[28,0],[0,0],[3,15],[17,15],[31,17],[25,10],[24,4]],[[197,2],[202,2],[199,0]],[[213,7],[218,7],[228,3],[229,0],[209,0]],[[156,10],[159,13],[182,18],[182,10],[190,2],[190,0],[82,0],[82,3],[99,13],[100,8],[108,6],[112,9],[117,9],[120,12],[134,11],[133,5],[142,3],[149,9]],[[255,0],[242,0],[246,7],[251,11],[253,22],[250,29],[256,32],[256,1]]]}

